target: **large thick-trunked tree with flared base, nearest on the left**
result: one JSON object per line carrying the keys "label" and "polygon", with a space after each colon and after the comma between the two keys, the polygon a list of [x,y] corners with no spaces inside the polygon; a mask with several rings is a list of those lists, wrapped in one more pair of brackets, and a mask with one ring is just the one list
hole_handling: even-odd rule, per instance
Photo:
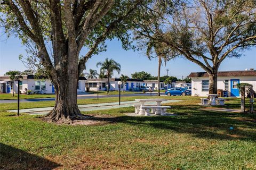
{"label": "large thick-trunked tree with flared base, nearest on the left", "polygon": [[[70,122],[86,118],[77,107],[78,76],[89,58],[105,50],[104,41],[118,37],[129,44],[130,21],[141,0],[4,0],[1,24],[24,44],[34,44],[36,57],[55,89],[55,106],[45,117]],[[81,49],[85,53],[81,54]]]}

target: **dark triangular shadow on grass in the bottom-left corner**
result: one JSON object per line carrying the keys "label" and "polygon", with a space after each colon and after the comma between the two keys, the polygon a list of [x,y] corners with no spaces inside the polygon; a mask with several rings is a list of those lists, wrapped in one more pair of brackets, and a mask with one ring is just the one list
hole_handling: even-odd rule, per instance
{"label": "dark triangular shadow on grass in the bottom-left corner", "polygon": [[54,169],[60,165],[0,143],[0,169]]}

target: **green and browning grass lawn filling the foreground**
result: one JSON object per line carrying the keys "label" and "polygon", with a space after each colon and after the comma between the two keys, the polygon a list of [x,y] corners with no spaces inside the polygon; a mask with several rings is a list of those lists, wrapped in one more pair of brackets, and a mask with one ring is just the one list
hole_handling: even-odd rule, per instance
{"label": "green and browning grass lawn filling the foreground", "polygon": [[[199,111],[198,97],[169,98],[183,100],[167,104],[179,116],[123,114],[132,107],[84,112],[107,115],[91,126],[2,111],[0,169],[256,169],[256,114]],[[226,103],[239,108],[239,99]]]}

